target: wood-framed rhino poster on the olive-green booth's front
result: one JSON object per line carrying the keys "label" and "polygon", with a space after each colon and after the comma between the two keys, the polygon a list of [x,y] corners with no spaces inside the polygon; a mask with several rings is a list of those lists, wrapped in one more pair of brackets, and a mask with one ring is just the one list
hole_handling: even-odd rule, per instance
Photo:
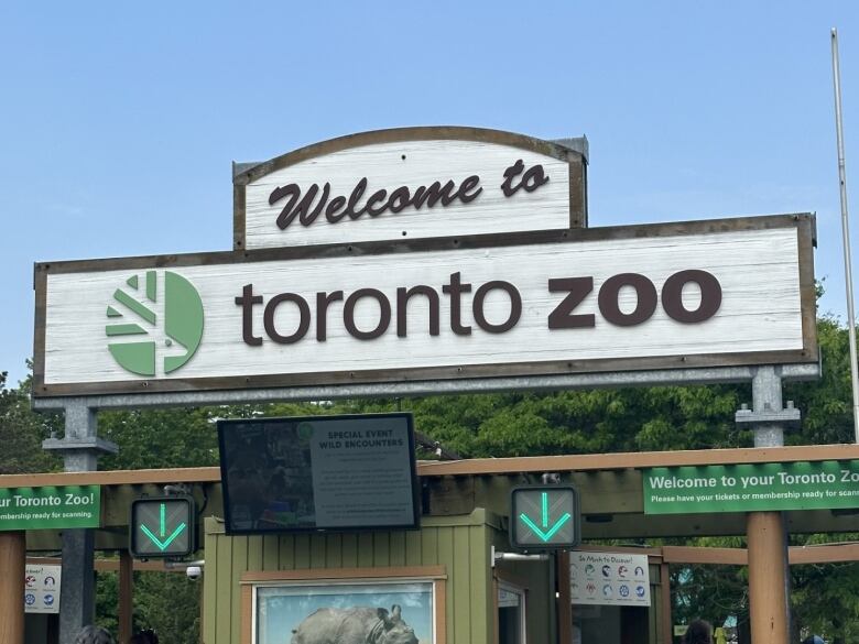
{"label": "wood-framed rhino poster on the olive-green booth's front", "polygon": [[246,572],[242,644],[444,644],[444,582],[438,567]]}

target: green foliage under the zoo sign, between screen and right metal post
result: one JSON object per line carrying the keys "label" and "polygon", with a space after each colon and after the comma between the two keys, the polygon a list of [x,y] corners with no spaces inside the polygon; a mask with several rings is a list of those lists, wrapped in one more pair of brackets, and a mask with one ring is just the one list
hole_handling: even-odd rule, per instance
{"label": "green foliage under the zoo sign, between screen and right metal post", "polygon": [[415,427],[467,458],[706,449],[751,445],[733,413],[748,386],[670,386],[335,403],[340,413],[414,414]]}

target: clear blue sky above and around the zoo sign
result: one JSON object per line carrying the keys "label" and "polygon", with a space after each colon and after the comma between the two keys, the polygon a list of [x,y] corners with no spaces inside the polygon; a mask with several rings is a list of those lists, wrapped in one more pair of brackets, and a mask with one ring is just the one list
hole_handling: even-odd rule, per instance
{"label": "clear blue sky above and around the zoo sign", "polygon": [[230,162],[463,124],[587,134],[592,226],[813,210],[844,280],[829,29],[859,253],[859,4],[0,3],[0,371],[34,261],[228,250]]}

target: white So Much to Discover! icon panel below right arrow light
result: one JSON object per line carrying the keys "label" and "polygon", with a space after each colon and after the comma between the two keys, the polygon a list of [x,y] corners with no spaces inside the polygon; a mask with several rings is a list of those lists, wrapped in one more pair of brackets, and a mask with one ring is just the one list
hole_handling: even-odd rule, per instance
{"label": "white So Much to Discover! icon panel below right arrow light", "polygon": [[650,605],[648,557],[573,550],[569,590],[578,604]]}

